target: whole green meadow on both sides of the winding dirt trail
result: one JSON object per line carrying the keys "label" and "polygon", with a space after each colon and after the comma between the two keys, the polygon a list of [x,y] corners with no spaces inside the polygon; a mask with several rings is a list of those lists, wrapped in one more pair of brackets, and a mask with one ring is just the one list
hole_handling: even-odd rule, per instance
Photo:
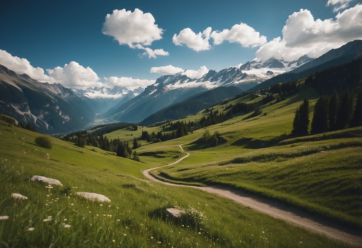
{"label": "whole green meadow on both sides of the winding dirt trail", "polygon": [[[178,147],[182,144],[190,156],[153,171],[155,176],[181,184],[230,186],[360,228],[361,127],[291,137],[295,109],[305,96],[311,101],[311,119],[319,97],[312,88],[271,105],[249,95],[234,101],[255,102],[262,114],[242,120],[248,114],[240,113],[207,127],[223,138],[218,146],[199,144],[205,128],[166,142],[141,141],[136,149],[141,162],[52,137],[52,149],[45,149],[34,143],[41,134],[0,121],[0,216],[9,217],[0,220],[1,246],[350,247],[231,200],[159,184],[142,174],[184,156]],[[185,119],[203,115],[200,111]],[[121,129],[107,137],[131,141],[142,130],[161,128]],[[58,179],[64,186],[46,188],[30,181],[33,175]],[[104,194],[111,202],[92,202],[76,192]],[[28,199],[14,200],[12,193]],[[193,218],[172,219],[166,214],[171,207]]]}

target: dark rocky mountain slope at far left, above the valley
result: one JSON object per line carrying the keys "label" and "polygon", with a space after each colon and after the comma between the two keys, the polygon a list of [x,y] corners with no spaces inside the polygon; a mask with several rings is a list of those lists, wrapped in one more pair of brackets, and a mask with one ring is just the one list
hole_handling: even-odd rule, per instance
{"label": "dark rocky mountain slope at far left, above the valley", "polygon": [[38,132],[54,134],[83,128],[102,107],[60,84],[41,83],[0,65],[0,113]]}

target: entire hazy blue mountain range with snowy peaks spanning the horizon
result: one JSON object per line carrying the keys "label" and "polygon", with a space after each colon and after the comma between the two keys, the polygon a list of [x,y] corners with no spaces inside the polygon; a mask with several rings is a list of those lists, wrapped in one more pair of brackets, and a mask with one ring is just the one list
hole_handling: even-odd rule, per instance
{"label": "entire hazy blue mountain range with snowy peaks spanning the horizon", "polygon": [[[201,106],[221,101],[222,97],[294,81],[316,70],[351,61],[361,54],[362,40],[354,40],[316,59],[304,55],[290,62],[273,58],[250,61],[238,68],[209,70],[201,78],[190,78],[182,73],[164,75],[144,90],[140,87],[128,90],[121,86],[71,90],[60,84],[38,82],[0,65],[0,113],[23,124],[30,123],[38,132],[47,134],[79,130],[95,119],[98,123],[145,120],[142,124],[147,125],[192,114]],[[225,89],[231,86],[233,90]],[[202,94],[210,90],[211,93]],[[207,95],[214,99],[210,101]]]}

